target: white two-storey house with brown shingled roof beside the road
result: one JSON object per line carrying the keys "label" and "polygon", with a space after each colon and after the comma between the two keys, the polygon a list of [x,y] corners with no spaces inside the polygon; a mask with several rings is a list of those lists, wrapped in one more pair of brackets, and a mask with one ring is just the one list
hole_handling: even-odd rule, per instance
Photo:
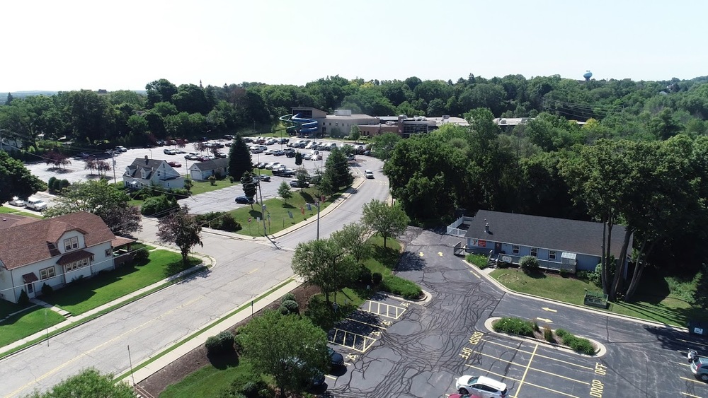
{"label": "white two-storey house with brown shingled roof beside the road", "polygon": [[114,269],[114,250],[132,242],[116,237],[101,217],[85,211],[15,220],[0,227],[0,298],[17,303],[22,291],[33,298],[45,283],[61,288]]}

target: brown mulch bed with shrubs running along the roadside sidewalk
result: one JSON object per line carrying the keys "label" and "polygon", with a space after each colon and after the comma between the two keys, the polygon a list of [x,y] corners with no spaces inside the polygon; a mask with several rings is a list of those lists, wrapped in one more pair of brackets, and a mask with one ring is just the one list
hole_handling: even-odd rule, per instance
{"label": "brown mulch bed with shrubs running along the roadside sidewalk", "polygon": [[[307,310],[309,298],[319,293],[319,291],[320,290],[317,286],[302,285],[298,286],[290,293],[295,295],[295,300],[297,301],[297,304],[299,304],[300,312],[304,313],[305,310]],[[275,310],[279,306],[280,300],[275,300],[263,310]],[[256,315],[259,315],[263,312],[263,310],[256,312]],[[246,324],[246,322],[248,322],[248,320],[243,320],[229,330],[233,332],[237,327],[242,324]],[[157,397],[169,385],[180,382],[191,373],[194,373],[196,370],[199,370],[209,364],[210,361],[209,358],[207,358],[207,349],[204,344],[202,344],[137,384],[142,387],[143,390],[149,392],[149,394],[153,397]]]}

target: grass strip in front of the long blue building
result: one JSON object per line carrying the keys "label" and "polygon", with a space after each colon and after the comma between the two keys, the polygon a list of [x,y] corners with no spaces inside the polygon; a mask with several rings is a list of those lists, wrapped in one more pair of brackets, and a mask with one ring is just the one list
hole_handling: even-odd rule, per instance
{"label": "grass strip in front of the long blue building", "polygon": [[[586,280],[561,277],[557,274],[527,276],[517,269],[495,269],[491,276],[507,288],[521,293],[552,298],[565,303],[583,305],[585,289],[601,292],[602,289]],[[607,309],[653,322],[685,327],[689,319],[708,322],[708,315],[693,306],[684,296],[685,286],[675,286],[674,278],[644,272],[639,290],[631,303],[610,303]],[[593,308],[596,309],[596,308]]]}

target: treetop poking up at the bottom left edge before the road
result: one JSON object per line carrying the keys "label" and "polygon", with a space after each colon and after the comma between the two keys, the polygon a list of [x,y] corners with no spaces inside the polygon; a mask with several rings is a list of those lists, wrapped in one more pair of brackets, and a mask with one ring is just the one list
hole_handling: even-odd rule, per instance
{"label": "treetop poking up at the bottom left edge before the road", "polygon": [[35,391],[28,398],[110,397],[135,398],[135,392],[126,382],[113,381],[113,375],[101,374],[96,368],[62,380],[46,392]]}

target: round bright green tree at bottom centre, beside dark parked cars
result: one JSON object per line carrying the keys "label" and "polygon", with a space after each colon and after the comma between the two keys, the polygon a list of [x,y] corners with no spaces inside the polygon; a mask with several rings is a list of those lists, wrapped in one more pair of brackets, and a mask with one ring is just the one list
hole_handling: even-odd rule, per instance
{"label": "round bright green tree at bottom centre, beside dark parked cars", "polygon": [[281,397],[326,372],[331,361],[326,333],[299,315],[265,311],[249,321],[236,339],[254,372],[273,376]]}

